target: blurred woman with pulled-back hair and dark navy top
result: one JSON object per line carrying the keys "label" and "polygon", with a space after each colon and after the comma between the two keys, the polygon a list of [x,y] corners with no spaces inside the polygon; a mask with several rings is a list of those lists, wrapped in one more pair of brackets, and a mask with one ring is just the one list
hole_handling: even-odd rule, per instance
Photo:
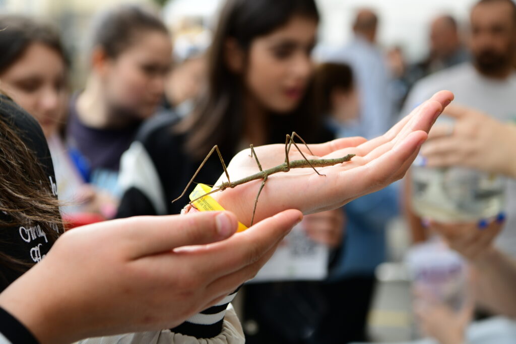
{"label": "blurred woman with pulled-back hair and dark navy top", "polygon": [[86,181],[117,199],[120,156],[163,99],[172,44],[162,21],[136,6],[101,13],[90,44],[91,71],[70,103],[67,139]]}

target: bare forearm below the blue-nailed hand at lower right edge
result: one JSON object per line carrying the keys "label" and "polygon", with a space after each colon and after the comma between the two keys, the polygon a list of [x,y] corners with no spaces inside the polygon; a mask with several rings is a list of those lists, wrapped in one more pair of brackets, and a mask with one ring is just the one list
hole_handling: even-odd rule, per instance
{"label": "bare forearm below the blue-nailed hand at lower right edge", "polygon": [[516,261],[496,250],[490,249],[473,261],[478,271],[478,300],[481,304],[516,317]]}

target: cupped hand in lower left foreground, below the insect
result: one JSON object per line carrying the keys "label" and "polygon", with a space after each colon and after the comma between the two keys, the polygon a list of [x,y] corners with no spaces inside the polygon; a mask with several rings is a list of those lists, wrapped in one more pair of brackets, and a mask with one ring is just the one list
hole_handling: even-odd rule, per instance
{"label": "cupped hand in lower left foreground, below the insect", "polygon": [[171,328],[251,279],[301,218],[287,210],[236,235],[230,212],[79,227],[4,290],[0,306],[41,343]]}

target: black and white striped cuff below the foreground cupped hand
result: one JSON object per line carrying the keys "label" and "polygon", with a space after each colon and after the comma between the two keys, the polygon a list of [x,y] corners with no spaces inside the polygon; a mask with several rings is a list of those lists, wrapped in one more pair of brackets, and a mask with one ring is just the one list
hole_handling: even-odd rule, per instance
{"label": "black and white striped cuff below the foreground cupped hand", "polygon": [[202,312],[186,319],[181,325],[170,329],[172,332],[181,333],[196,338],[213,338],[222,332],[222,324],[226,308],[236,296],[238,289],[222,299],[219,303],[204,309]]}

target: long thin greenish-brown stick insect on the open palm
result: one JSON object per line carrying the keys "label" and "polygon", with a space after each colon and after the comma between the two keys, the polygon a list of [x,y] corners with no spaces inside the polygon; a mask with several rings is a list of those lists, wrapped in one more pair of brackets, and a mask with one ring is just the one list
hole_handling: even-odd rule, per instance
{"label": "long thin greenish-brown stick insect on the open palm", "polygon": [[[199,171],[202,169],[202,167],[204,166],[204,164],[206,163],[208,158],[210,156],[212,156],[212,154],[214,152],[217,152],[217,155],[219,156],[220,162],[222,163],[222,168],[224,169],[224,173],[225,173],[226,177],[228,178],[228,181],[227,182],[223,182],[220,185],[216,185],[211,191],[206,192],[205,194],[203,194],[202,196],[199,196],[195,200],[190,201],[189,204],[192,204],[193,202],[203,198],[204,196],[207,196],[209,194],[215,193],[217,191],[224,191],[227,188],[234,188],[237,185],[241,185],[241,184],[245,184],[245,183],[248,183],[248,182],[251,182],[251,181],[255,181],[256,179],[262,179],[262,184],[260,185],[260,189],[258,190],[258,193],[256,194],[256,198],[254,199],[253,215],[251,217],[251,225],[252,225],[253,222],[254,222],[254,215],[256,213],[256,206],[258,204],[258,198],[260,197],[260,193],[262,193],[262,190],[263,190],[263,188],[265,186],[265,183],[267,182],[267,178],[269,177],[269,175],[275,174],[275,173],[278,173],[278,172],[288,172],[291,169],[296,169],[296,168],[312,168],[318,175],[324,176],[324,174],[320,174],[315,168],[316,167],[326,167],[326,166],[337,165],[337,163],[342,163],[342,162],[349,161],[349,160],[351,160],[351,158],[353,156],[355,156],[354,154],[348,154],[348,155],[346,155],[346,156],[344,156],[342,158],[334,158],[334,159],[308,159],[303,154],[303,152],[299,149],[299,146],[294,141],[294,138],[298,138],[307,147],[307,149],[310,152],[310,154],[314,155],[312,153],[312,151],[310,150],[308,144],[306,142],[304,142],[304,140],[296,132],[292,132],[292,135],[288,135],[287,134],[286,135],[286,139],[285,139],[285,162],[281,163],[278,166],[271,167],[269,169],[264,170],[264,169],[262,169],[262,165],[261,165],[260,161],[258,160],[258,157],[256,156],[256,152],[254,152],[253,145],[251,144],[250,145],[250,149],[251,149],[250,157],[252,158],[254,156],[254,159],[256,160],[256,164],[258,165],[258,169],[260,171],[257,172],[257,173],[254,173],[254,174],[252,174],[250,176],[238,179],[237,181],[234,181],[234,182],[231,182],[231,179],[230,179],[229,173],[228,173],[228,169],[227,169],[227,167],[226,167],[226,165],[224,163],[224,160],[222,159],[222,155],[220,154],[218,146],[217,145],[213,146],[212,150],[209,151],[208,155],[206,155],[204,160],[201,162],[201,165],[199,166],[199,168],[197,169],[195,174],[193,174],[193,177],[190,179],[190,182],[188,182],[188,185],[185,187],[185,189],[183,190],[181,195],[178,198],[176,198],[175,200],[173,200],[172,203],[174,203],[175,201],[177,201],[177,200],[179,200],[180,198],[183,197],[183,195],[185,194],[186,190],[188,190],[190,185],[193,183],[193,179],[195,179],[195,177],[197,176]],[[301,153],[301,156],[303,157],[303,159],[292,160],[291,161],[288,158],[288,153],[290,152],[291,146],[293,144],[296,147],[296,149],[299,151],[299,153]]]}

